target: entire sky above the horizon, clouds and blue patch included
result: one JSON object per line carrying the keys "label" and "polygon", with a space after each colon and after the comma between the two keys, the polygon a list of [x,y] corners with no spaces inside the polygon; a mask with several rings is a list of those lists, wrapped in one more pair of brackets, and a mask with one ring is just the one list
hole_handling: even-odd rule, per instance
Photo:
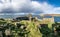
{"label": "entire sky above the horizon, clouds and blue patch included", "polygon": [[60,0],[0,0],[0,15],[60,14]]}

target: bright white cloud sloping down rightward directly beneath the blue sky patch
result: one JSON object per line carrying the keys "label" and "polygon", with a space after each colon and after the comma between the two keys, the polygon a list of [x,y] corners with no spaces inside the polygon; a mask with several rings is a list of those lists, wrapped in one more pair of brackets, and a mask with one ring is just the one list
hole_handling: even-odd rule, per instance
{"label": "bright white cloud sloping down rightward directly beneath the blue sky patch", "polygon": [[32,4],[35,9],[43,12],[43,14],[60,14],[60,7],[55,7],[47,2],[39,3],[33,1]]}

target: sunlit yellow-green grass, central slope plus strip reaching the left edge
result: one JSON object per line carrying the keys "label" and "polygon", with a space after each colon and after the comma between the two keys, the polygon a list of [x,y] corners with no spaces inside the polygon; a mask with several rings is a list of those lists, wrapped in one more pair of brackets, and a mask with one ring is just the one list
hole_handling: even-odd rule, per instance
{"label": "sunlit yellow-green grass, central slope plus strip reaching the left edge", "polygon": [[[36,22],[25,21],[25,20],[20,21],[20,22],[11,22],[10,20],[0,21],[0,24],[7,24],[7,23],[10,23],[13,25],[15,25],[16,23],[24,24],[27,27],[26,30],[29,31],[29,33],[26,34],[26,35],[28,35],[28,37],[42,37],[42,35],[43,35],[38,28],[38,26],[40,25],[40,21],[36,21]],[[48,23],[48,28],[52,29],[52,23],[50,23],[50,22]],[[48,29],[46,28],[45,30],[48,30]],[[13,30],[13,31],[15,31],[15,30]],[[45,32],[45,33],[47,33],[47,32]],[[15,35],[15,37],[18,37],[18,30],[17,30],[17,32],[14,33],[14,35]]]}

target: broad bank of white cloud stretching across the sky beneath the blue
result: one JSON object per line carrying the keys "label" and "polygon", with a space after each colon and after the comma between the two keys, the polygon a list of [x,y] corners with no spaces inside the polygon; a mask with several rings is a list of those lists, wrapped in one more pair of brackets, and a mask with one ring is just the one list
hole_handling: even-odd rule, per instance
{"label": "broad bank of white cloud stretching across the sky beneath the blue", "polygon": [[31,0],[1,0],[0,12],[5,9],[12,9],[20,13],[32,14],[60,14],[60,7],[54,7],[47,2],[37,2]]}

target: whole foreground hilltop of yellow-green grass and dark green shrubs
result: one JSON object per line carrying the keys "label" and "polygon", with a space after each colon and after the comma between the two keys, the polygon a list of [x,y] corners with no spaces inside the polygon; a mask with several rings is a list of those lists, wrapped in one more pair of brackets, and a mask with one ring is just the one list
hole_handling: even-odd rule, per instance
{"label": "whole foreground hilltop of yellow-green grass and dark green shrubs", "polygon": [[[0,19],[0,31],[3,37],[55,37],[59,36],[59,32],[55,30],[60,27],[59,23],[40,24],[38,20],[5,20]],[[58,27],[57,27],[58,26]],[[6,33],[7,30],[7,33]],[[9,33],[10,32],[10,33]],[[6,35],[8,34],[8,35]],[[58,35],[57,35],[58,34]]]}

